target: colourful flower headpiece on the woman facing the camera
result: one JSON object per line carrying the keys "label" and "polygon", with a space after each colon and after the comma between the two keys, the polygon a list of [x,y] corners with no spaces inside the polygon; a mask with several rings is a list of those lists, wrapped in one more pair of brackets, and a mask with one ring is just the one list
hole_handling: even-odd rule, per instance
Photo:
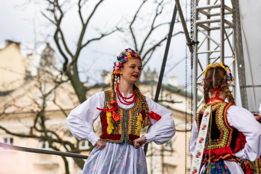
{"label": "colourful flower headpiece on the woman facing the camera", "polygon": [[122,51],[119,54],[119,56],[117,56],[117,61],[114,62],[114,66],[113,66],[113,73],[116,76],[119,76],[119,73],[120,73],[119,68],[123,67],[123,63],[128,61],[128,60],[130,60],[133,57],[136,57],[136,58],[140,59],[140,61],[141,61],[141,68],[142,68],[141,56],[138,55],[137,51],[128,48],[128,49],[125,49],[124,51]]}

